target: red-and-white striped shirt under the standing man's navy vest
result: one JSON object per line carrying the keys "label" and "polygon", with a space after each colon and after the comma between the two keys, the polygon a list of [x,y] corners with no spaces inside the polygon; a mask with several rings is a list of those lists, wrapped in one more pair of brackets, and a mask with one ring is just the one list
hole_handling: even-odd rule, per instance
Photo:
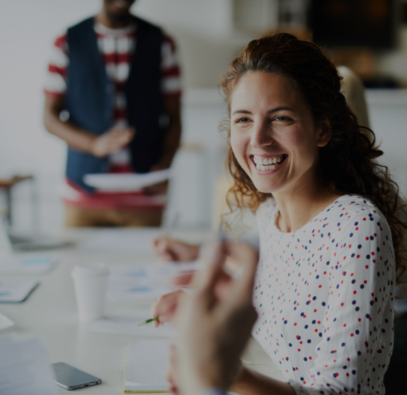
{"label": "red-and-white striped shirt under the standing man's navy vest", "polygon": [[[106,28],[101,23],[94,24],[98,47],[105,60],[108,77],[115,87],[114,126],[127,126],[127,103],[124,91],[129,76],[132,54],[137,46],[137,24],[125,28]],[[69,66],[69,45],[67,33],[55,40],[45,79],[45,94],[64,96],[67,91]],[[161,47],[161,89],[164,98],[180,98],[180,67],[176,45],[164,35]],[[110,172],[129,172],[130,151],[126,147],[110,155]]]}

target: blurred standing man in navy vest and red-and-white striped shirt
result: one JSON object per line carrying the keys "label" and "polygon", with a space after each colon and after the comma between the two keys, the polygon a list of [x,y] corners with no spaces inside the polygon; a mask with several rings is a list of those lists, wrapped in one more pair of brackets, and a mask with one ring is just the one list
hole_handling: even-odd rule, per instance
{"label": "blurred standing man in navy vest and red-and-white striped shirt", "polygon": [[[87,173],[169,168],[180,142],[180,69],[173,40],[130,13],[135,0],[103,0],[100,13],[57,38],[44,123],[68,144],[67,226],[159,226],[166,185],[101,193]],[[163,199],[164,197],[164,199]]]}

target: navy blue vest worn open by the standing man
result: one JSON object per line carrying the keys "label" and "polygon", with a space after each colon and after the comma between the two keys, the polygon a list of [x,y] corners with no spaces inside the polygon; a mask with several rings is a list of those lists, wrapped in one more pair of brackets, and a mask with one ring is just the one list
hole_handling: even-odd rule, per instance
{"label": "navy blue vest worn open by the standing man", "polygon": [[[160,126],[164,111],[161,93],[163,33],[151,23],[135,19],[137,44],[125,94],[128,123],[136,129],[130,144],[132,168],[137,173],[147,173],[161,157],[165,132]],[[113,126],[113,84],[98,50],[93,18],[68,29],[68,47],[66,106],[69,120],[88,132],[103,134]],[[88,193],[93,188],[84,183],[84,174],[105,173],[108,166],[108,158],[68,149],[67,178]]]}

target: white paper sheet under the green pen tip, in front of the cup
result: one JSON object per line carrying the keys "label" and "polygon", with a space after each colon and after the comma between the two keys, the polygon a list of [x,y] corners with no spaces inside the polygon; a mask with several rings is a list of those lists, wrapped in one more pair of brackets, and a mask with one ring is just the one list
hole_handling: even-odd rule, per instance
{"label": "white paper sheet under the green pen tip, in front of the cup", "polygon": [[103,319],[93,322],[89,332],[117,333],[120,335],[152,336],[157,338],[176,338],[176,331],[171,324],[154,328],[154,323],[139,326],[150,318],[149,309],[123,308]]}

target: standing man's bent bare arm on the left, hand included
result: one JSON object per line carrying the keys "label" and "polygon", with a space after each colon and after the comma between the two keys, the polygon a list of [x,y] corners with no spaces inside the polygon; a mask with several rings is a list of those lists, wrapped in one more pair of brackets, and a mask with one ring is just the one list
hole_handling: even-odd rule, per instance
{"label": "standing man's bent bare arm on the left, hand included", "polygon": [[69,147],[94,156],[107,156],[125,147],[134,137],[134,130],[112,128],[96,136],[71,122],[62,122],[59,114],[64,109],[64,96],[45,95],[44,125],[48,132],[63,139]]}

